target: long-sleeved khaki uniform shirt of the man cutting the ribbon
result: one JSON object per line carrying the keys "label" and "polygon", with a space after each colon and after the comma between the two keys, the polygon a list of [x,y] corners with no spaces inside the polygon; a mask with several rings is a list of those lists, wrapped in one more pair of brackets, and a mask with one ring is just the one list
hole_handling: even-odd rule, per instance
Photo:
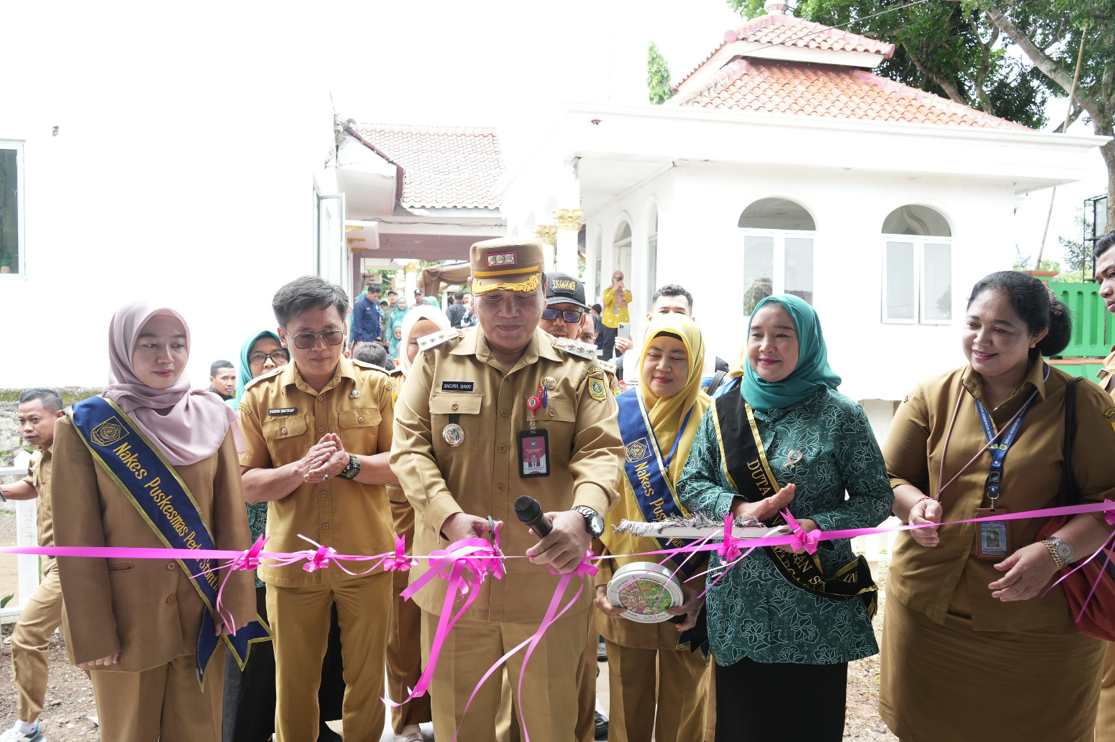
{"label": "long-sleeved khaki uniform shirt of the man cutting the ribbon", "polygon": [[[558,350],[555,339],[536,330],[510,373],[495,360],[479,328],[423,351],[415,359],[395,419],[391,469],[415,507],[415,554],[445,548],[442,524],[454,512],[503,520],[501,543],[507,555],[522,555],[537,543],[515,517],[520,495],[539,500],[543,511],[588,506],[601,515],[617,502],[619,458],[623,455],[613,379],[595,361]],[[520,477],[517,433],[529,429],[526,400],[545,378],[549,406],[537,412],[537,428],[549,431],[550,476]],[[590,384],[590,380],[594,380]],[[473,391],[443,391],[443,382],[473,383]],[[595,393],[595,397],[593,397]],[[449,416],[459,416],[465,436],[449,446],[442,436]],[[410,582],[427,568],[411,569]],[[507,559],[503,579],[486,579],[468,612],[477,621],[539,621],[559,577],[530,559]],[[446,582],[434,579],[415,597],[428,613],[440,614]],[[575,609],[591,601],[585,585]],[[568,597],[572,597],[572,593]]]}

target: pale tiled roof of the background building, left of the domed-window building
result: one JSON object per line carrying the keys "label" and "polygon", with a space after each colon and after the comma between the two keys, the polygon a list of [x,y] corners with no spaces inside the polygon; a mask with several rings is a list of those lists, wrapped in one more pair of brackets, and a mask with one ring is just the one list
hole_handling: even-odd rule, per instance
{"label": "pale tiled roof of the background building, left of the domed-window building", "polygon": [[495,129],[355,124],[366,144],[403,169],[405,208],[500,208],[503,157]]}

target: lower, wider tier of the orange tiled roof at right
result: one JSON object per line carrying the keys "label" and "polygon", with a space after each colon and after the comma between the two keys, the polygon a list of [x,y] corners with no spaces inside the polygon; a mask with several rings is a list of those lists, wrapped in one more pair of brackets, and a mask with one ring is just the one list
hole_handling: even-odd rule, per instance
{"label": "lower, wider tier of the orange tiled roof at right", "polygon": [[852,67],[736,59],[670,104],[715,110],[1026,129],[997,116]]}

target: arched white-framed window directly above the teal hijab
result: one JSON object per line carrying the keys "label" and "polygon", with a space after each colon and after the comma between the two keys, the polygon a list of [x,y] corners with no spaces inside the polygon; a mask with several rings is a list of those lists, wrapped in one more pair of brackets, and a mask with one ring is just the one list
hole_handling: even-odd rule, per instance
{"label": "arched white-framed window directly above the teal hijab", "polygon": [[744,315],[770,294],[813,303],[813,216],[786,198],[760,198],[739,215],[744,232]]}

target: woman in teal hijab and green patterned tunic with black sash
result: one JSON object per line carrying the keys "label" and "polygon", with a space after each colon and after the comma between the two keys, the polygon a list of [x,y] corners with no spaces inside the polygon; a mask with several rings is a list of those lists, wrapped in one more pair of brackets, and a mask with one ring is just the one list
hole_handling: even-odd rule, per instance
{"label": "woman in teal hijab and green patterned tunic with black sash", "polygon": [[[694,515],[803,530],[864,528],[890,515],[890,480],[867,416],[836,391],[816,312],[797,296],[759,302],[738,380],[705,413],[678,495]],[[844,499],[845,491],[849,499]],[[712,556],[709,583],[721,560]],[[875,587],[847,539],[815,554],[759,548],[707,598],[717,742],[836,742],[847,663],[879,652]]]}

